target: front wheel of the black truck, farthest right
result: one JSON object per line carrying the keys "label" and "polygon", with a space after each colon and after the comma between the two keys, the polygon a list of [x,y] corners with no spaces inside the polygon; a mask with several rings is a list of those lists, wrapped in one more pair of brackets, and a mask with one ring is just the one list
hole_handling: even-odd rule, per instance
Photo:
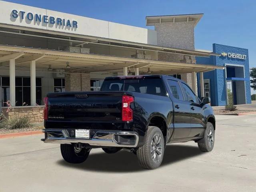
{"label": "front wheel of the black truck, farthest right", "polygon": [[204,138],[198,141],[198,147],[202,152],[210,152],[214,147],[215,131],[212,123],[207,122]]}

